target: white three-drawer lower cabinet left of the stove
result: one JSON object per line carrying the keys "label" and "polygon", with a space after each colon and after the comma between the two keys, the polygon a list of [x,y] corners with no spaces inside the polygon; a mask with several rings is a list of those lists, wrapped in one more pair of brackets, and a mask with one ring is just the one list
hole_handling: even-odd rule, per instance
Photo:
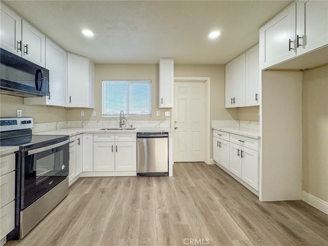
{"label": "white three-drawer lower cabinet left of the stove", "polygon": [[15,154],[0,158],[0,240],[14,229]]}

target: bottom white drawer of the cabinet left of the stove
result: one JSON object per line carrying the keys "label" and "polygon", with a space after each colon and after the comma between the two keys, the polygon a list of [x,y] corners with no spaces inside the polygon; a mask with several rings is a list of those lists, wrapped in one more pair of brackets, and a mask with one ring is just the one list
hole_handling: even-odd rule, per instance
{"label": "bottom white drawer of the cabinet left of the stove", "polygon": [[4,238],[14,229],[15,201],[0,209],[0,238]]}

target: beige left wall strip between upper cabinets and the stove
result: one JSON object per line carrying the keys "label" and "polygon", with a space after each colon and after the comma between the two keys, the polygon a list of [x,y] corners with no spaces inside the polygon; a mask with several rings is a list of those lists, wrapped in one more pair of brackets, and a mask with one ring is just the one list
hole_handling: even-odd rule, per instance
{"label": "beige left wall strip between upper cabinets and the stove", "polygon": [[34,123],[66,121],[67,110],[47,106],[29,106],[23,104],[23,97],[0,95],[0,116],[15,117],[16,110],[22,110],[23,116],[33,117]]}

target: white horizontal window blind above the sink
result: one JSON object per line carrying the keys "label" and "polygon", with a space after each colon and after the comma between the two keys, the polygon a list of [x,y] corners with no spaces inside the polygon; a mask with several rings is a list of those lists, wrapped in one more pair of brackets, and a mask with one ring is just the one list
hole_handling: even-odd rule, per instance
{"label": "white horizontal window blind above the sink", "polygon": [[151,116],[151,80],[103,80],[103,116]]}

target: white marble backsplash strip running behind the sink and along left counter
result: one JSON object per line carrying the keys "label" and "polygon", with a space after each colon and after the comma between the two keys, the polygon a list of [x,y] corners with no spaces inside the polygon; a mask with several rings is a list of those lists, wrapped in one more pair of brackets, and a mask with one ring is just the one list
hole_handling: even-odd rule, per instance
{"label": "white marble backsplash strip running behind the sink and along left counter", "polygon": [[[170,127],[170,120],[127,120],[126,126],[130,127]],[[33,133],[52,131],[63,128],[110,128],[119,127],[118,120],[89,120],[89,121],[58,121],[48,123],[36,123]]]}

